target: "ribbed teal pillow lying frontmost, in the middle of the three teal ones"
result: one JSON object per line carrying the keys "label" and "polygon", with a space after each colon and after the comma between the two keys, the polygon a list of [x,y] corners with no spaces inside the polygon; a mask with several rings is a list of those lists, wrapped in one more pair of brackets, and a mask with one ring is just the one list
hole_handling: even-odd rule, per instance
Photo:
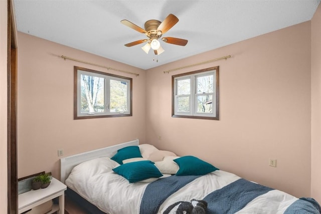
{"label": "ribbed teal pillow lying frontmost, in the middle of the three teal ones", "polygon": [[138,182],[152,177],[158,178],[163,176],[163,174],[150,160],[124,163],[116,168],[113,168],[112,170],[126,178],[129,183]]}

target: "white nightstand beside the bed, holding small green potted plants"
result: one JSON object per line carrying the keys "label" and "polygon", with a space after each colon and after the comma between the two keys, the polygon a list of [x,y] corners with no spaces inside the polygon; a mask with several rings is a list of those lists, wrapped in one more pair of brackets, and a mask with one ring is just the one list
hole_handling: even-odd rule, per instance
{"label": "white nightstand beside the bed, holding small green potted plants", "polygon": [[51,183],[47,188],[30,190],[28,192],[18,195],[18,213],[27,211],[35,206],[38,206],[48,200],[52,200],[59,197],[59,205],[54,204],[52,210],[46,214],[57,211],[58,214],[65,213],[65,190],[67,186],[57,180],[56,178],[51,179]]}

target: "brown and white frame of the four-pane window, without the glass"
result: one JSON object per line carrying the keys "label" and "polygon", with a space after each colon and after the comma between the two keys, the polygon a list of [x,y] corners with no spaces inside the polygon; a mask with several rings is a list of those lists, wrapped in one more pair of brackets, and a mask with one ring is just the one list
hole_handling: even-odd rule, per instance
{"label": "brown and white frame of the four-pane window, without the glass", "polygon": [[[197,84],[196,77],[203,75],[213,74],[213,112],[212,113],[197,113]],[[177,95],[177,80],[190,79],[190,112],[177,112],[177,97],[186,97],[187,95]],[[212,94],[212,93],[211,93]],[[215,108],[215,109],[214,109]],[[172,117],[178,118],[193,118],[193,119],[208,119],[219,120],[219,66],[205,68],[197,71],[187,72],[183,74],[177,74],[172,76]]]}

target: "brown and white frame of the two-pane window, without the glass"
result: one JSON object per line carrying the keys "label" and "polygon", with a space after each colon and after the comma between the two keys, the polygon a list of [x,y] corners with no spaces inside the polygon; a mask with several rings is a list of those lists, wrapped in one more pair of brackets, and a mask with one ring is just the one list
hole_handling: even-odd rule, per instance
{"label": "brown and white frame of the two-pane window, without the glass", "polygon": [[[93,115],[90,114],[84,114],[80,113],[80,99],[81,99],[81,93],[79,93],[80,89],[80,75],[86,74],[86,73],[92,73],[92,76],[95,77],[104,77],[107,80],[122,80],[124,82],[128,83],[128,89],[127,89],[127,104],[128,104],[128,111],[125,113],[120,112],[104,112],[104,113],[96,113]],[[109,84],[104,83],[104,93],[106,91],[110,92],[110,88],[107,89],[105,86]],[[104,95],[104,99],[106,100],[106,94]],[[106,103],[106,101],[105,101]],[[106,105],[104,104],[104,109],[106,109]],[[82,68],[78,66],[74,66],[74,120],[78,119],[92,119],[92,118],[105,118],[105,117],[128,117],[132,116],[132,78],[129,77],[123,77],[115,74],[109,74],[101,71],[95,71],[92,69]]]}

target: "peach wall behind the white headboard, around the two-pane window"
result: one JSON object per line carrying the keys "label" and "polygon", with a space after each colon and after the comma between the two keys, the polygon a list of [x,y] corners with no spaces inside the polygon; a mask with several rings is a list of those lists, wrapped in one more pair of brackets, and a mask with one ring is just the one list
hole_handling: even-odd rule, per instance
{"label": "peach wall behind the white headboard, around the two-pane window", "polygon": [[[138,138],[145,140],[145,71],[19,33],[18,55],[18,175],[51,171],[60,177],[57,150],[64,156]],[[139,73],[135,75],[70,60]],[[80,66],[133,78],[133,116],[73,119],[73,72]]]}

